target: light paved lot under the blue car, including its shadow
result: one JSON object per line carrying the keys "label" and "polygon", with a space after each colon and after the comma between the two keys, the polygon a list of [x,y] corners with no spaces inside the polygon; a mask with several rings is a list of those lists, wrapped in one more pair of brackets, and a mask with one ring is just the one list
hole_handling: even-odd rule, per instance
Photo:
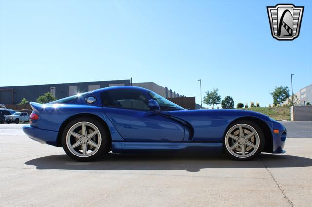
{"label": "light paved lot under the blue car, including its shadow", "polygon": [[312,206],[309,124],[285,124],[287,153],[254,161],[110,153],[86,163],[29,139],[24,124],[0,124],[0,206]]}

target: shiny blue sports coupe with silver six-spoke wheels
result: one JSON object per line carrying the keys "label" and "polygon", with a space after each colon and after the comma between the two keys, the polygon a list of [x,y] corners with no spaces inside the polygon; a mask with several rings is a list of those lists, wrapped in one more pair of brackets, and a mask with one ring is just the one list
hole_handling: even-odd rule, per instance
{"label": "shiny blue sports coupe with silver six-spoke wheels", "polygon": [[110,151],[216,150],[236,160],[250,160],[261,152],[285,152],[285,127],[266,115],[234,109],[186,110],[135,86],[30,104],[30,125],[23,131],[31,139],[63,147],[78,161],[91,161]]}

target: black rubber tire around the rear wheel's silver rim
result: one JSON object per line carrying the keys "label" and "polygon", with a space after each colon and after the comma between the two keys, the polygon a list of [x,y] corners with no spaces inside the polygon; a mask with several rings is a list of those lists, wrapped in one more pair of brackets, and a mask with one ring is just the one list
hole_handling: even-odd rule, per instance
{"label": "black rubber tire around the rear wheel's silver rim", "polygon": [[[88,156],[88,157],[80,157],[78,155],[73,154],[68,149],[68,146],[67,146],[67,143],[66,143],[66,136],[67,136],[68,131],[71,129],[72,126],[74,126],[75,124],[77,124],[79,122],[89,122],[91,124],[94,124],[98,128],[98,131],[99,131],[99,133],[101,135],[101,144],[98,147],[98,151],[96,153],[94,153],[93,155]],[[65,153],[69,157],[71,157],[72,159],[74,159],[76,161],[89,162],[89,161],[93,161],[93,160],[97,159],[100,155],[103,155],[103,154],[109,152],[109,148],[111,146],[110,142],[111,141],[110,141],[110,138],[109,138],[109,134],[105,130],[105,128],[103,127],[103,123],[98,121],[98,120],[96,120],[96,119],[90,118],[90,117],[79,117],[79,118],[77,118],[75,120],[70,121],[65,126],[65,128],[64,128],[64,130],[62,132],[62,146],[63,146],[63,149],[64,149]]]}

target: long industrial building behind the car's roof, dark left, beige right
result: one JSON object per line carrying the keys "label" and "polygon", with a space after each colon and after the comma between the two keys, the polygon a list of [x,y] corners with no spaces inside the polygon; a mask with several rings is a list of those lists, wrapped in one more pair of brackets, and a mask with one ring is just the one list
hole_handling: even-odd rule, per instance
{"label": "long industrial building behind the car's roof, dark left, beige right", "polygon": [[[5,86],[0,87],[0,104],[15,105],[19,104],[23,98],[28,101],[36,102],[36,99],[50,92],[57,99],[72,96],[77,93],[83,93],[86,91],[96,90],[99,88],[110,86],[130,86],[129,79],[126,80],[113,80],[113,81],[94,81],[94,82],[80,82],[80,83],[63,83],[63,84],[45,84],[45,85],[31,85],[31,86]],[[185,97],[176,91],[167,87],[159,86],[154,82],[132,83],[132,86],[143,87],[149,90],[153,90],[159,95],[170,99],[173,102],[178,102],[182,107],[186,104],[186,108],[195,109],[198,108],[198,104],[195,104],[195,97],[186,99]],[[181,97],[181,98],[180,98]],[[183,97],[183,99],[182,99]]]}

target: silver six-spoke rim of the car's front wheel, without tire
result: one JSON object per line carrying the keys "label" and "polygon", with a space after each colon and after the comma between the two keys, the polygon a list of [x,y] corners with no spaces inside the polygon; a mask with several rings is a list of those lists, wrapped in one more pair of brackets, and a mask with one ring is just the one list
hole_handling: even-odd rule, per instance
{"label": "silver six-spoke rim of the car's front wheel, without tire", "polygon": [[247,158],[258,150],[260,139],[257,131],[247,124],[237,124],[225,136],[226,149],[233,156]]}

